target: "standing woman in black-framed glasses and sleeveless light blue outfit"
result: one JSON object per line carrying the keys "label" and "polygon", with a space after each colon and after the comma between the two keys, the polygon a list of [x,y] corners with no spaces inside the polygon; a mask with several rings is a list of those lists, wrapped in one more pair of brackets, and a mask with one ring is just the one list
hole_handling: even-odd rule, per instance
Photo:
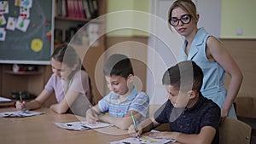
{"label": "standing woman in black-framed glasses and sleeveless light blue outfit", "polygon": [[[199,14],[191,0],[177,0],[169,9],[169,26],[185,37],[179,61],[194,60],[204,72],[202,95],[221,107],[221,121],[236,118],[233,102],[240,89],[242,73],[220,41],[201,27],[197,28]],[[224,87],[225,73],[230,76],[228,89]]]}

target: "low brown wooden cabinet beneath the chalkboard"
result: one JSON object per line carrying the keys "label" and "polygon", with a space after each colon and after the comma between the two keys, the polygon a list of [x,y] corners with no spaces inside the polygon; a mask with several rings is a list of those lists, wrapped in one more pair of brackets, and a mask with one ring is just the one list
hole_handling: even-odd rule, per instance
{"label": "low brown wooden cabinet beneath the chalkboard", "polygon": [[27,91],[32,95],[39,95],[50,75],[50,66],[38,66],[36,72],[13,72],[12,65],[0,66],[1,89],[4,97],[9,97],[11,92]]}

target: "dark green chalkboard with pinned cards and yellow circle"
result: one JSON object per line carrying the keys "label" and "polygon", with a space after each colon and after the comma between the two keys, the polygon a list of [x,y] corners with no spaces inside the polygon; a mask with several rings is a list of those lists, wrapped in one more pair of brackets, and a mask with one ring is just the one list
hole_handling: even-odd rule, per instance
{"label": "dark green chalkboard with pinned cards and yellow circle", "polygon": [[50,63],[54,0],[0,0],[0,63]]}

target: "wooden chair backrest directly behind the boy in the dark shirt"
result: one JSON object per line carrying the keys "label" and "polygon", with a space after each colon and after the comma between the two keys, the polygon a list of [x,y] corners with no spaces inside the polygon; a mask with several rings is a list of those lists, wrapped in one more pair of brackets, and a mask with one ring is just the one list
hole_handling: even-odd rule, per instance
{"label": "wooden chair backrest directly behind the boy in the dark shirt", "polygon": [[219,144],[250,144],[252,128],[235,118],[226,118],[219,127]]}

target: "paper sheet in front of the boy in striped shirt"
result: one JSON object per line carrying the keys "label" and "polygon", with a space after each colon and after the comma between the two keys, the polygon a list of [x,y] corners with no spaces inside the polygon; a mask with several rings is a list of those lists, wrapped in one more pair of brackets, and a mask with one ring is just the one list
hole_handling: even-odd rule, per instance
{"label": "paper sheet in front of the boy in striped shirt", "polygon": [[55,123],[58,127],[67,130],[89,130],[96,128],[103,128],[113,126],[113,124],[97,122],[96,124],[90,124],[87,121],[69,122],[69,123]]}

